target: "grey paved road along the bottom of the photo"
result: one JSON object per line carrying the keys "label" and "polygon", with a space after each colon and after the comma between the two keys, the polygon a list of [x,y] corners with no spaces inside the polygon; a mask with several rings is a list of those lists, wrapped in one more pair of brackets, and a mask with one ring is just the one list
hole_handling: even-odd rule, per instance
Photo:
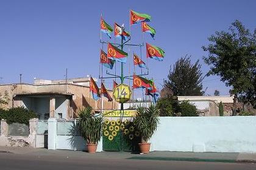
{"label": "grey paved road along the bottom of the photo", "polygon": [[252,163],[218,163],[195,161],[128,160],[123,158],[83,158],[56,155],[19,155],[0,153],[0,169],[256,169]]}

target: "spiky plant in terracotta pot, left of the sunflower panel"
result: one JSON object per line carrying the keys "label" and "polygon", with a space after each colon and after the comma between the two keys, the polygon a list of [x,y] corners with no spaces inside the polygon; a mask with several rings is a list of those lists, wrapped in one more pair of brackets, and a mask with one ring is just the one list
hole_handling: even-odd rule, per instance
{"label": "spiky plant in terracotta pot, left of the sunflower panel", "polygon": [[102,124],[104,122],[104,117],[102,115],[94,115],[92,110],[90,106],[79,110],[79,121],[77,123],[80,134],[87,141],[89,153],[96,152],[98,141],[101,140]]}

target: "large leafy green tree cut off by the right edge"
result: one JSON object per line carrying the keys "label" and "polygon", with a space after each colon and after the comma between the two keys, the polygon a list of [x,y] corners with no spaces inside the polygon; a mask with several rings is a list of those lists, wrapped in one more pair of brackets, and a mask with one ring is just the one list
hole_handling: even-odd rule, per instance
{"label": "large leafy green tree cut off by the right edge", "polygon": [[210,44],[202,47],[208,52],[207,76],[219,75],[235,97],[256,107],[256,29],[251,33],[236,20],[227,32],[216,32],[208,40]]}

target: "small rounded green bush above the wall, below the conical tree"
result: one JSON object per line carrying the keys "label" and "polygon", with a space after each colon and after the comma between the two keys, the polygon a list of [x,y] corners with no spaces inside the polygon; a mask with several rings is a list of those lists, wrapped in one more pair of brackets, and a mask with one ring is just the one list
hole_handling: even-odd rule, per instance
{"label": "small rounded green bush above the wall, below the conical tree", "polygon": [[182,117],[198,117],[199,113],[197,112],[196,106],[190,104],[188,101],[182,101],[179,103],[179,112]]}

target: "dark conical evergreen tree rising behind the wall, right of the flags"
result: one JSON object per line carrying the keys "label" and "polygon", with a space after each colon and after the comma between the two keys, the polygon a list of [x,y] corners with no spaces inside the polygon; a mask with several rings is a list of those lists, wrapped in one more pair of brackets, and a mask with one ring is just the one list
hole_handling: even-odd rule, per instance
{"label": "dark conical evergreen tree rising behind the wall, right of the flags", "polygon": [[204,95],[202,91],[202,71],[199,60],[191,64],[191,56],[186,55],[174,64],[169,70],[168,80],[164,86],[171,89],[174,95]]}

